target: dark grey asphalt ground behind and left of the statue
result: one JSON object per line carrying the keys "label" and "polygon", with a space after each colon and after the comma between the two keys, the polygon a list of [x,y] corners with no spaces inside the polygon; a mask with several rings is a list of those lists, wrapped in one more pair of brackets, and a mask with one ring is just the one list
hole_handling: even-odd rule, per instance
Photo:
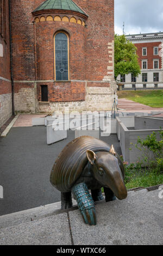
{"label": "dark grey asphalt ground behind and left of the statue", "polygon": [[[60,151],[74,139],[74,131],[68,138],[47,145],[46,127],[12,127],[6,138],[0,137],[0,216],[60,201],[60,192],[49,182],[52,166]],[[114,144],[121,154],[116,135],[101,137]]]}

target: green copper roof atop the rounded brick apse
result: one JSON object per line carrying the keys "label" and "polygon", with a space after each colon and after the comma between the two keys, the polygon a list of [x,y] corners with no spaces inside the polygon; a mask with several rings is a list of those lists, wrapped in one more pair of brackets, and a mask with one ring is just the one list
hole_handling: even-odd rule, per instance
{"label": "green copper roof atop the rounded brick apse", "polygon": [[72,10],[72,11],[77,11],[78,13],[82,13],[86,15],[86,13],[84,13],[84,11],[80,9],[78,5],[74,3],[72,0],[46,0],[39,7],[37,7],[33,11],[33,13],[35,11],[47,10],[47,9]]}

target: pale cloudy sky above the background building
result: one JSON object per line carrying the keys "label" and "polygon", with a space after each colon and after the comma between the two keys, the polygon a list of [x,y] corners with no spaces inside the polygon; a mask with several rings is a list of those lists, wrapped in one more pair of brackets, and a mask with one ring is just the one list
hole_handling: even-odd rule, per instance
{"label": "pale cloudy sky above the background building", "polygon": [[115,0],[115,33],[163,32],[162,0]]}

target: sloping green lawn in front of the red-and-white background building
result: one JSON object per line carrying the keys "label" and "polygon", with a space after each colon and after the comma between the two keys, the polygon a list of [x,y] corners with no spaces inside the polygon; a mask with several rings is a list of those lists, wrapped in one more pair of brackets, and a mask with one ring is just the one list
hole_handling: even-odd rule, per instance
{"label": "sloping green lawn in front of the red-and-white background building", "polygon": [[163,107],[163,90],[118,91],[118,99],[139,102],[150,107]]}

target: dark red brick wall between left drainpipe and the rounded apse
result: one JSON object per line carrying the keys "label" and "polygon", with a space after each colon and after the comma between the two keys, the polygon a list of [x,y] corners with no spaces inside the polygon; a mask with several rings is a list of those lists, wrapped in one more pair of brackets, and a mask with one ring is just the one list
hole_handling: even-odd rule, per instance
{"label": "dark red brick wall between left drainpipe and the rounded apse", "polygon": [[34,2],[39,1],[11,0],[14,80],[35,80],[33,16],[31,14]]}

